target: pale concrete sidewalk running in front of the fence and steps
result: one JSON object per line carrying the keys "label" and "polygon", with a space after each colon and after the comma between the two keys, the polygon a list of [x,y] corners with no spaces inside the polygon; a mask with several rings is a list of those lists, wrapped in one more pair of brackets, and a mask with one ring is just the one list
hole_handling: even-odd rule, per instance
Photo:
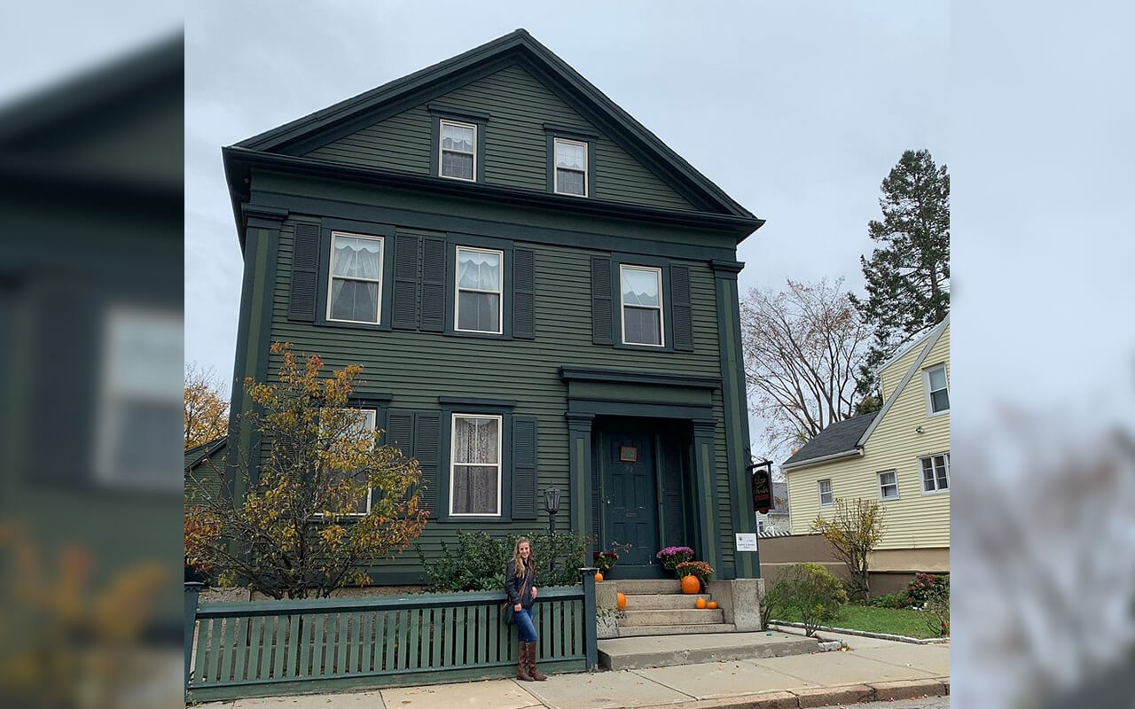
{"label": "pale concrete sidewalk running in front of the fence and steps", "polygon": [[949,693],[949,645],[818,633],[847,651],[200,704],[209,709],[802,708]]}

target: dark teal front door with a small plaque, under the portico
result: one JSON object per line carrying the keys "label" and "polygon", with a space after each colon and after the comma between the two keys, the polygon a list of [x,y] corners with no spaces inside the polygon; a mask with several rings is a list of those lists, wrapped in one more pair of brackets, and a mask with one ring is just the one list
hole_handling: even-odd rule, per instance
{"label": "dark teal front door with a small plaque, under the portico", "polygon": [[603,438],[604,547],[632,545],[629,551],[617,550],[620,566],[653,564],[658,546],[654,436],[612,431]]}

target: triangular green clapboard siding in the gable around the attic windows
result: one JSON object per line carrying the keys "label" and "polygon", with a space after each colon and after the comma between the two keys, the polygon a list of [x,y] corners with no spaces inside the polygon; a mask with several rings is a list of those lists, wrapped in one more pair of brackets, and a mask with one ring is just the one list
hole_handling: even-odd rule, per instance
{"label": "triangular green clapboard siding in the gable around the attic windows", "polygon": [[[547,140],[544,124],[597,129],[547,86],[519,66],[471,82],[443,96],[339,138],[305,157],[346,164],[436,172],[430,155],[427,103],[489,113],[486,124],[485,182],[547,192]],[[600,135],[595,143],[595,192],[600,200],[667,209],[695,209],[622,147]]]}

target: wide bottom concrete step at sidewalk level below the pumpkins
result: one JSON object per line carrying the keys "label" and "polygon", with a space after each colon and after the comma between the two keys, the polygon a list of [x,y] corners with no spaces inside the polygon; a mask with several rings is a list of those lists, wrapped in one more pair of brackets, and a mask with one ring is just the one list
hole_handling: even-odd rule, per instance
{"label": "wide bottom concrete step at sidewalk level below the pumpkins", "polygon": [[606,669],[642,669],[806,655],[818,649],[815,638],[777,632],[612,638],[599,641],[599,665]]}

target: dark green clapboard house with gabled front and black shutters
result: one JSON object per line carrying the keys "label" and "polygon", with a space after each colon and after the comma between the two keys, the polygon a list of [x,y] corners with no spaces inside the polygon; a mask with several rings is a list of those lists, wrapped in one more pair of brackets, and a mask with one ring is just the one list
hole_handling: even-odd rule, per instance
{"label": "dark green clapboard house with gabled front and black shutters", "polygon": [[[624,577],[671,545],[758,575],[735,255],[763,221],[526,31],[224,160],[235,378],[271,378],[274,340],[362,364],[359,406],[429,481],[427,555],[544,529],[555,487],[560,529],[633,545]],[[372,576],[422,581],[417,555]]]}

